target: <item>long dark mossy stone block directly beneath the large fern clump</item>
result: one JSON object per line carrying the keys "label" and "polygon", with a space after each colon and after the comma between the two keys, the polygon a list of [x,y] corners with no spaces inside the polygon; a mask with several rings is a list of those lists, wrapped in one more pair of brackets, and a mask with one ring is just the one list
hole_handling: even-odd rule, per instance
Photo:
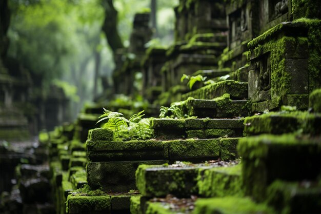
{"label": "long dark mossy stone block directly beneath the large fern clump", "polygon": [[87,141],[90,161],[163,160],[163,141]]}

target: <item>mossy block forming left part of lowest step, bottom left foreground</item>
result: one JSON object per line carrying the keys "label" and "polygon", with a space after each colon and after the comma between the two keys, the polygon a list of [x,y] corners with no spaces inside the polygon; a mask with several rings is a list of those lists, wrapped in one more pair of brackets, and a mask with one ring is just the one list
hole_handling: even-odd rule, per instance
{"label": "mossy block forming left part of lowest step, bottom left foreground", "polygon": [[67,198],[66,213],[111,213],[110,196],[81,196],[70,194]]}

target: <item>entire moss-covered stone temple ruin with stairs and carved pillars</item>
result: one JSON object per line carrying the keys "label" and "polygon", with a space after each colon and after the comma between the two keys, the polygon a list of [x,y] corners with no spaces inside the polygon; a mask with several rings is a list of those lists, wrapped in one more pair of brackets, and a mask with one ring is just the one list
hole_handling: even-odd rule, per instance
{"label": "entire moss-covered stone temple ruin with stairs and carved pillars", "polygon": [[[117,92],[140,69],[151,108],[175,102],[152,138],[119,140],[96,124],[103,104],[88,107],[39,134],[1,212],[320,212],[321,3],[182,0],[175,13],[172,47],[144,54],[134,30],[135,59],[117,57]],[[183,73],[212,83],[188,91]]]}

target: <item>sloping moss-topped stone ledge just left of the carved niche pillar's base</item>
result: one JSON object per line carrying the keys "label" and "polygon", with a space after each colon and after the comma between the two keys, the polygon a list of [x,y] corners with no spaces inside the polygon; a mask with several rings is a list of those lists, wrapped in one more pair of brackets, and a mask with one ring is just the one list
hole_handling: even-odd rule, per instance
{"label": "sloping moss-topped stone ledge just left of the carved niche pillar's base", "polygon": [[229,93],[232,100],[243,100],[248,97],[248,84],[240,83],[233,80],[226,80],[211,85],[204,86],[195,91],[182,95],[182,100],[187,100],[189,97],[194,99],[211,100]]}

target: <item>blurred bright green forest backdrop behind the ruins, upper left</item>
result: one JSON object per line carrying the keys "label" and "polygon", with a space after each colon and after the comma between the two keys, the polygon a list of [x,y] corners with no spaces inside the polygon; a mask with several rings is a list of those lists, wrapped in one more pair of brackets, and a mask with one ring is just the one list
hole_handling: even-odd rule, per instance
{"label": "blurred bright green forest backdrop behind the ruins, upper left", "polygon": [[[110,27],[104,22],[110,3],[118,23],[106,20],[118,28],[120,36],[112,44],[102,33],[104,23],[104,27]],[[173,34],[172,7],[177,4],[178,0],[157,1],[159,43],[170,44],[173,40],[168,35]],[[113,45],[129,45],[133,16],[149,8],[150,0],[9,0],[9,7],[8,56],[30,71],[33,94],[50,93],[51,84],[62,87],[73,101],[75,116],[84,102],[102,92],[96,80],[101,75],[111,76]]]}

